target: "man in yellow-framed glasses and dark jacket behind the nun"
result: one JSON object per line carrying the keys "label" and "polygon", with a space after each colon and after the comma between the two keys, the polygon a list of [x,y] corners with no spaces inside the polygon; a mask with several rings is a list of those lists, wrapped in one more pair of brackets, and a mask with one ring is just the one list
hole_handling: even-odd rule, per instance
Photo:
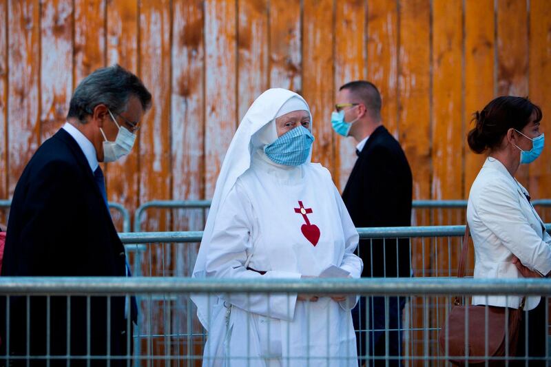
{"label": "man in yellow-framed glasses and dark jacket behind the nun", "polygon": [[[357,160],[342,193],[355,226],[409,226],[411,170],[402,147],[382,125],[382,102],[377,87],[368,81],[347,83],[340,87],[336,102],[336,111],[331,116],[333,129],[357,142]],[[364,261],[363,277],[410,276],[407,239],[360,240],[358,255]],[[355,329],[362,330],[357,334],[360,365],[365,362],[384,366],[387,359],[384,356],[402,354],[399,329],[405,303],[404,297],[360,299],[352,311]],[[371,361],[366,361],[366,355],[371,356]],[[400,365],[399,359],[389,361],[391,366]]]}

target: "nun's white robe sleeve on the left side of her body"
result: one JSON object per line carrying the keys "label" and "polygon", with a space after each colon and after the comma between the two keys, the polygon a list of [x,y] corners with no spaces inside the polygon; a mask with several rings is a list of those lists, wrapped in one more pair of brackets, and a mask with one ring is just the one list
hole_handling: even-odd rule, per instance
{"label": "nun's white robe sleeve on the left side of her body", "polygon": [[[251,233],[255,216],[251,201],[240,181],[236,182],[218,211],[205,264],[207,277],[231,279],[293,278],[299,273],[267,271],[264,275],[247,270],[245,262],[252,249]],[[220,297],[245,311],[291,321],[296,294],[225,294]]]}

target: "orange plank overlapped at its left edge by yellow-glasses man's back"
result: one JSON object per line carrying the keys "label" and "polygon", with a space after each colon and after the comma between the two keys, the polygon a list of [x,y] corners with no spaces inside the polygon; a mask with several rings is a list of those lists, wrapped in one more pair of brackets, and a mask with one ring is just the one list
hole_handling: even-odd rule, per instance
{"label": "orange plank overlapped at its left edge by yellow-glasses man's back", "polygon": [[[399,142],[413,173],[413,198],[430,197],[430,1],[412,0],[399,3],[398,53],[398,119]],[[413,225],[421,216],[414,216]],[[410,244],[415,276],[422,276],[430,267],[433,242],[413,240]],[[419,299],[413,299],[411,324],[424,326]],[[421,329],[422,330],[422,329]],[[414,332],[407,346],[411,355],[422,355],[419,340],[430,336],[426,331]]]}

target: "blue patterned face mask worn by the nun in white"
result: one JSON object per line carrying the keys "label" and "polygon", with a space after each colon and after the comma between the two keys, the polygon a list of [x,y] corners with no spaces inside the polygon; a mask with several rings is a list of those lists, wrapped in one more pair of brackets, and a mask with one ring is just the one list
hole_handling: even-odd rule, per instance
{"label": "blue patterned face mask worn by the nun in white", "polygon": [[308,159],[313,141],[309,129],[299,126],[264,147],[264,153],[278,165],[298,166]]}

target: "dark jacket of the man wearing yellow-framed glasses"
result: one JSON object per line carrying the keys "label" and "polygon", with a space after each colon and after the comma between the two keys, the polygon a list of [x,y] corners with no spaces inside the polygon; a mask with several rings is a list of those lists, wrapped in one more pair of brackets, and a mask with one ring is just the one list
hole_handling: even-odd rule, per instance
{"label": "dark jacket of the man wearing yellow-framed glasses", "polygon": [[[384,126],[369,136],[358,156],[342,200],[356,227],[411,224],[412,176],[406,155]],[[364,277],[409,277],[408,240],[361,240]]]}

